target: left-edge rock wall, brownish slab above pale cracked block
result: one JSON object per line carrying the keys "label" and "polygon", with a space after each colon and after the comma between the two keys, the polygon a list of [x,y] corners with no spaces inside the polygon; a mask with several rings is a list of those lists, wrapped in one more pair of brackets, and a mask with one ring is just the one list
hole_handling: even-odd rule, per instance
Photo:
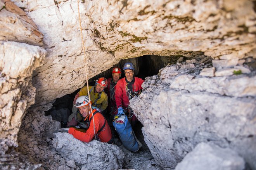
{"label": "left-edge rock wall, brownish slab above pale cracked block", "polygon": [[46,51],[33,46],[42,45],[42,34],[24,11],[8,0],[1,0],[0,7],[0,139],[17,146],[22,118],[35,102],[33,71],[43,64]]}

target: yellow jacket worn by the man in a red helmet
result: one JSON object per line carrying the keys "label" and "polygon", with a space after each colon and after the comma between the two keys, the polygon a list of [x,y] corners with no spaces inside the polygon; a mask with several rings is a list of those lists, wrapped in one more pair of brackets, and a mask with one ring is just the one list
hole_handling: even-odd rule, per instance
{"label": "yellow jacket worn by the man in a red helmet", "polygon": [[[107,94],[104,91],[101,92],[101,94],[95,93],[94,86],[89,86],[89,92],[90,92],[90,99],[92,100],[92,105],[95,107],[98,107],[101,111],[105,110],[108,104]],[[87,86],[82,87],[78,93],[79,93],[79,96],[87,95],[88,93]],[[95,100],[96,100],[96,103],[95,103]]]}

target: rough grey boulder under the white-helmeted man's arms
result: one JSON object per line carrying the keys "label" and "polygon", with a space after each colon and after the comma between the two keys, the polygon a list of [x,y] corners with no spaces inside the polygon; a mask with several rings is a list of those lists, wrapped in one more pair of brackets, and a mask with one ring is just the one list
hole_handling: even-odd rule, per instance
{"label": "rough grey boulder under the white-helmeted man's arms", "polygon": [[55,133],[54,148],[67,161],[74,160],[81,169],[120,169],[124,153],[116,145],[93,140],[84,143],[68,133]]}

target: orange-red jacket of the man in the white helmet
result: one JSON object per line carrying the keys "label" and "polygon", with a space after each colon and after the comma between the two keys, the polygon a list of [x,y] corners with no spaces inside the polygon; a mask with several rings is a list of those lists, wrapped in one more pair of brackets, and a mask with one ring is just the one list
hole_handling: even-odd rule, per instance
{"label": "orange-red jacket of the man in the white helmet", "polygon": [[[93,109],[92,112],[94,113],[95,111],[97,110]],[[94,131],[93,131],[93,119],[91,119],[91,117],[92,117],[92,114],[90,114],[89,116],[89,120],[91,121],[90,121],[90,126],[86,132],[81,132],[74,128],[69,128],[68,133],[72,134],[74,138],[79,139],[80,141],[87,142],[87,143],[92,141],[92,139],[94,138]],[[107,120],[102,114],[97,113],[94,115],[94,124],[95,124],[96,134],[100,130],[100,128],[102,128],[105,121],[106,121],[105,128],[102,129],[102,131],[99,133],[99,138],[101,142],[109,142],[111,140],[112,138],[111,130],[109,128],[109,124],[107,124]]]}

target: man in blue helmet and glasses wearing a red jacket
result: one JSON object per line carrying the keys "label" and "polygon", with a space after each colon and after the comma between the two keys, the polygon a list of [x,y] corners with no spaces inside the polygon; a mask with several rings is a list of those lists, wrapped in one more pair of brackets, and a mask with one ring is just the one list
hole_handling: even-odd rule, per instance
{"label": "man in blue helmet and glasses wearing a red jacket", "polygon": [[125,63],[123,70],[125,71],[125,77],[120,79],[116,83],[116,106],[118,108],[118,115],[126,114],[128,112],[128,118],[133,128],[137,122],[137,117],[133,114],[133,110],[129,107],[129,100],[138,96],[142,90],[142,83],[144,80],[138,77],[134,77],[133,63]]}

